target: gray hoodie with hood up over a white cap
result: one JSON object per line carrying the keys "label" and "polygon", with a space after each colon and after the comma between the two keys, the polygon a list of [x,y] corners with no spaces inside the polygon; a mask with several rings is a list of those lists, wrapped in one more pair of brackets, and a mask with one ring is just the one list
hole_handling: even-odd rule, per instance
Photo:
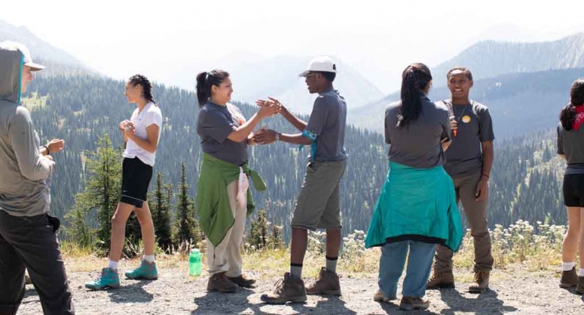
{"label": "gray hoodie with hood up over a white cap", "polygon": [[20,106],[23,54],[0,46],[0,210],[11,216],[48,212],[46,179],[53,172],[39,152],[40,140],[25,106]]}

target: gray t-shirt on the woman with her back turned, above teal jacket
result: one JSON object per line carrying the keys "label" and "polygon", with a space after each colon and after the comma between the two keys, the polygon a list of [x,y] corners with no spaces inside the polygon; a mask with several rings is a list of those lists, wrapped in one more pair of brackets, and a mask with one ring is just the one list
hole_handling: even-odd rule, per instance
{"label": "gray t-shirt on the woman with her back turned, above teal jacket", "polygon": [[444,151],[440,140],[450,134],[448,109],[422,97],[422,111],[417,120],[396,127],[402,102],[390,104],[386,109],[386,143],[390,144],[389,159],[393,162],[429,169],[444,164]]}

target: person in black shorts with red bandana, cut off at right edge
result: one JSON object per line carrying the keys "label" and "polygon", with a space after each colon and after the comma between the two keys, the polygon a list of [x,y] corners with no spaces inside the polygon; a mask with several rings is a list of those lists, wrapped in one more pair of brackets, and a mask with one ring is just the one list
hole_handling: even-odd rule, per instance
{"label": "person in black shorts with red bandana, cut off at right edge", "polygon": [[[567,163],[562,190],[569,222],[562,244],[562,279],[559,286],[576,286],[576,292],[584,294],[584,78],[572,84],[570,103],[559,113],[559,120],[557,154]],[[576,249],[580,252],[578,274]]]}

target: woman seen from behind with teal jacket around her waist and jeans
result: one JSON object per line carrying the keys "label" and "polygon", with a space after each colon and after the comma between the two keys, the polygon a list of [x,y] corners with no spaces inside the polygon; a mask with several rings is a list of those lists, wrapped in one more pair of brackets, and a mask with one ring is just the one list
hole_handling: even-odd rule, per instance
{"label": "woman seen from behind with teal jacket around her waist and jeans", "polygon": [[450,145],[448,109],[426,96],[432,75],[424,64],[402,73],[401,101],[386,109],[389,172],[367,230],[365,246],[381,246],[375,301],[397,299],[405,260],[401,309],[427,309],[426,281],[435,244],[457,251],[463,228],[454,185],[444,171]]}

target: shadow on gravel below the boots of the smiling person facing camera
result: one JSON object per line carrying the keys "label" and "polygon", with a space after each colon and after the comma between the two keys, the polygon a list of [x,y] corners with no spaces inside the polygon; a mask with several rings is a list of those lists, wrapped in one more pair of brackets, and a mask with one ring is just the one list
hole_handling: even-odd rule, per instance
{"label": "shadow on gravel below the boots of the smiling person facing camera", "polygon": [[456,289],[440,290],[440,294],[442,295],[442,301],[449,307],[440,311],[440,314],[444,315],[454,315],[455,312],[491,315],[517,311],[516,307],[504,306],[503,301],[497,298],[498,294],[494,290],[487,290],[484,293],[473,295],[473,298],[464,297]]}

